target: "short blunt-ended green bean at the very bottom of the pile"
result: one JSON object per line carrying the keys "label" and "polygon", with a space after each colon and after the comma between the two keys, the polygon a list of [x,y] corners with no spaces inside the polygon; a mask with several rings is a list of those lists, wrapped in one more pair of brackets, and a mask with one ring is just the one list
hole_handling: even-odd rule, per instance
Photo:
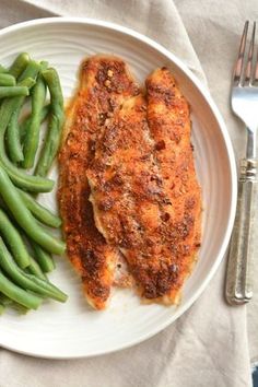
{"label": "short blunt-ended green bean at the very bottom of the pile", "polygon": [[0,292],[28,309],[37,309],[42,304],[40,297],[15,285],[3,274],[2,270],[0,270]]}

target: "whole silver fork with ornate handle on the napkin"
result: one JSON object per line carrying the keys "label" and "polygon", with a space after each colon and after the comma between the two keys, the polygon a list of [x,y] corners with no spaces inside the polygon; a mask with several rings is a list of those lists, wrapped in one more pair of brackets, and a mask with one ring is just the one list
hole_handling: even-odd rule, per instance
{"label": "whole silver fork with ornate handle on the napkin", "polygon": [[[258,128],[258,52],[256,23],[247,47],[249,22],[245,23],[233,74],[231,105],[247,129],[246,159],[241,160],[238,200],[228,253],[225,295],[230,304],[247,303],[253,297],[255,212],[257,200],[256,134]],[[258,224],[256,224],[258,226]]]}

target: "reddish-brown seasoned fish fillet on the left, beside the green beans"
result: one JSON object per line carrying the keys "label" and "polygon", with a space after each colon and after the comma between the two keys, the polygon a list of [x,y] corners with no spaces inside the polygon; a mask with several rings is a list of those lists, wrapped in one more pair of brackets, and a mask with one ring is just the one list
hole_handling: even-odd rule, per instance
{"label": "reddish-brown seasoned fish fillet on the left, beside the green beans", "polygon": [[96,309],[105,308],[108,302],[117,249],[106,244],[95,226],[85,171],[101,128],[125,98],[138,93],[122,60],[95,56],[82,63],[80,87],[67,114],[58,200],[68,256],[81,275],[89,303]]}

